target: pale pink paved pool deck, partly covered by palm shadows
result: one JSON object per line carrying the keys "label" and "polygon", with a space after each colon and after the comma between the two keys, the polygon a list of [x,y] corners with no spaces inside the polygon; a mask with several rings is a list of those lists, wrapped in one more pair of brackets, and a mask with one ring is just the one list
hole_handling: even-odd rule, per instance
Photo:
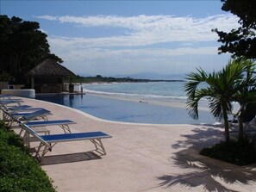
{"label": "pale pink paved pool deck, partly covered by palm shadows", "polygon": [[[103,121],[73,108],[22,98],[50,110],[49,120],[69,119],[72,133],[103,131],[107,155],[89,140],[59,143],[41,167],[59,192],[82,191],[255,191],[256,168],[198,155],[223,139],[219,125],[150,125]],[[48,127],[51,134],[63,133]]]}

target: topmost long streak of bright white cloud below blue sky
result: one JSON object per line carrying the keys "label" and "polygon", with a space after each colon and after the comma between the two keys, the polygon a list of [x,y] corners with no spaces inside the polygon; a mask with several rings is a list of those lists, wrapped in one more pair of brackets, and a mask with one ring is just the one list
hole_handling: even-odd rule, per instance
{"label": "topmost long streak of bright white cloud below blue sky", "polygon": [[186,29],[197,27],[209,31],[212,28],[231,29],[238,18],[234,15],[212,15],[205,18],[193,18],[191,16],[172,15],[137,15],[137,16],[117,16],[117,15],[95,15],[95,16],[51,16],[41,15],[37,18],[57,21],[60,23],[81,24],[84,28],[109,27],[109,28],[129,28],[134,31],[159,31],[162,29]]}

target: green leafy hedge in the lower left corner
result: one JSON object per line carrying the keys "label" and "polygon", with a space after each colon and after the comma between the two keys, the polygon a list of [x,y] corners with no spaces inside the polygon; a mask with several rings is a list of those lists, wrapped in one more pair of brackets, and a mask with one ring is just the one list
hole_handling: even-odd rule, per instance
{"label": "green leafy hedge in the lower left corner", "polygon": [[0,121],[0,191],[55,191],[22,139]]}

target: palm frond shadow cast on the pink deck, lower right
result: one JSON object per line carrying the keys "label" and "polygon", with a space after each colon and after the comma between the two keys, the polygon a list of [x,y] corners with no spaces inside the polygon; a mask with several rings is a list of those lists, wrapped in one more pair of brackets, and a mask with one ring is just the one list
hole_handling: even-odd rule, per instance
{"label": "palm frond shadow cast on the pink deck, lower right", "polygon": [[172,164],[185,173],[157,177],[159,187],[172,189],[172,186],[179,184],[189,188],[203,186],[206,191],[238,192],[235,184],[246,186],[256,182],[256,164],[238,166],[199,154],[203,147],[212,146],[223,139],[222,131],[214,127],[195,127],[193,132],[182,135],[186,139],[172,146],[176,149],[186,147],[171,157]]}

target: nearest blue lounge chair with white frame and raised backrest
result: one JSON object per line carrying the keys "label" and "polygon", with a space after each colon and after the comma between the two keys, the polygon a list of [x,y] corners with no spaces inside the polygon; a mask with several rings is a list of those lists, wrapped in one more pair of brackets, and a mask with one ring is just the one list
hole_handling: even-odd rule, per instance
{"label": "nearest blue lounge chair with white frame and raised backrest", "polygon": [[78,140],[90,140],[96,151],[102,155],[106,155],[105,148],[103,146],[102,139],[111,138],[107,133],[103,132],[86,132],[86,133],[63,133],[63,134],[50,134],[50,135],[39,135],[34,132],[33,129],[28,127],[28,125],[19,121],[19,125],[26,131],[25,144],[30,147],[29,134],[31,134],[37,141],[40,141],[40,145],[37,148],[35,153],[35,157],[39,159],[39,161],[44,158],[47,152],[51,152],[53,146],[55,146],[59,142],[67,142],[67,141],[78,141]]}

